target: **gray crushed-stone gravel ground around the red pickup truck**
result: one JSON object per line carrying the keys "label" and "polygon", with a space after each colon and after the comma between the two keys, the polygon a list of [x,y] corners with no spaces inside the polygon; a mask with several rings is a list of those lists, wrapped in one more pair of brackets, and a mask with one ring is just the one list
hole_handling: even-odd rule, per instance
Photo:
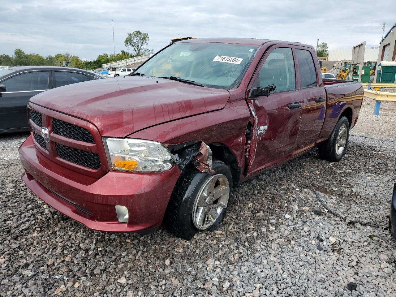
{"label": "gray crushed-stone gravel ground around the red pickup truck", "polygon": [[[356,130],[367,132],[372,110],[365,101]],[[352,130],[339,163],[314,149],[243,183],[219,230],[190,241],[68,219],[20,179],[26,134],[0,136],[0,296],[396,296],[389,135]],[[312,188],[333,211],[378,228],[326,212]]]}

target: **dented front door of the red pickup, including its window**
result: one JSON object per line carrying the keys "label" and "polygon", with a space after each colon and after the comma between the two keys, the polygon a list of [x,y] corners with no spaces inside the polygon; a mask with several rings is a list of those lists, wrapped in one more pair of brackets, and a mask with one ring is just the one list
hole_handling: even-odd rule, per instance
{"label": "dented front door of the red pickup, including its window", "polygon": [[265,53],[248,88],[252,133],[246,153],[251,175],[288,158],[301,124],[301,91],[296,89],[293,46]]}

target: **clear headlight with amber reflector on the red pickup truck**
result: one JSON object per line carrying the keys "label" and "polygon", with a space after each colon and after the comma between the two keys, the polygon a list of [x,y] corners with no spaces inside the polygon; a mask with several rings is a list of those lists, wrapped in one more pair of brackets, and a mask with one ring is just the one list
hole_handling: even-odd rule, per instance
{"label": "clear headlight with amber reflector on the red pickup truck", "polygon": [[133,172],[165,171],[172,159],[162,143],[141,139],[103,138],[110,169]]}

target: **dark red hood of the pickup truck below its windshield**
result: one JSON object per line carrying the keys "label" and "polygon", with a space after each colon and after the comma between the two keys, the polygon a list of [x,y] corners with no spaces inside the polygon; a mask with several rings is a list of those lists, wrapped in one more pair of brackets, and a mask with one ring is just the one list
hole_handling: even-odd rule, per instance
{"label": "dark red hood of the pickup truck below its windshield", "polygon": [[219,110],[230,93],[150,76],[81,82],[30,99],[94,124],[102,136],[125,137],[164,122]]}

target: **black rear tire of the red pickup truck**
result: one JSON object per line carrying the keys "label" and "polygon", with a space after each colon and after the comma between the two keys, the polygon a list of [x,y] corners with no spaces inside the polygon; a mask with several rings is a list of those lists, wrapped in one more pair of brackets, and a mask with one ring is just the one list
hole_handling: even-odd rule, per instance
{"label": "black rear tire of the red pickup truck", "polygon": [[[341,147],[337,146],[338,136],[340,134],[341,127],[346,129],[345,137],[341,137],[343,139],[341,144],[344,143],[344,147],[342,151],[340,151],[339,149]],[[335,125],[333,132],[331,132],[329,139],[323,141],[318,145],[319,158],[330,162],[341,161],[348,146],[348,139],[349,139],[349,121],[345,116],[342,116]]]}

